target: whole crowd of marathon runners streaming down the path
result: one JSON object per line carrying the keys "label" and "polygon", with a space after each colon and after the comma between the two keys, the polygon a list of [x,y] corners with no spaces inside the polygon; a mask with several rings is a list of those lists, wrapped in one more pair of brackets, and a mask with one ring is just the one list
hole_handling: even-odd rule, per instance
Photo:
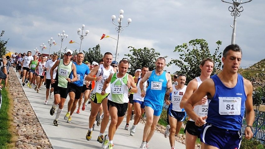
{"label": "whole crowd of marathon runners streaming down the path", "polygon": [[[242,59],[238,45],[224,49],[223,69],[219,74],[211,76],[215,62],[206,58],[198,65],[201,75],[188,85],[185,85],[188,74],[182,73],[175,74],[172,83],[171,75],[164,71],[166,61],[163,57],[156,59],[155,70],[149,71],[148,66],[134,68],[134,76],[127,73],[129,62],[113,61],[110,52],[106,52],[101,61],[92,63],[84,61],[83,53],[73,55],[71,50],[65,51],[63,59],[58,59],[57,54],[31,56],[30,51],[15,53],[11,59],[9,56],[3,58],[9,62],[2,68],[16,68],[23,86],[32,88],[35,85],[36,93],[44,89],[42,85],[46,86],[43,104],[47,105],[49,98],[54,99],[50,109],[50,115],[55,114],[54,126],[59,125],[58,118],[63,113],[68,95],[70,99],[64,115],[67,123],[74,120],[74,112],[78,114],[90,104],[88,131],[84,137],[88,141],[92,139],[96,122],[100,133],[94,139],[103,149],[114,148],[114,134],[126,113],[124,129],[131,136],[136,133],[142,116],[146,116],[144,131],[137,133],[143,133],[140,148],[148,148],[164,103],[169,105],[169,125],[164,136],[169,137],[171,149],[177,148],[175,134],[179,133],[187,115],[184,130],[187,149],[195,148],[197,138],[200,138],[203,149],[239,148],[243,120],[247,124],[245,138],[253,136],[253,87],[249,80],[237,73]],[[133,120],[131,127],[130,120]]]}

